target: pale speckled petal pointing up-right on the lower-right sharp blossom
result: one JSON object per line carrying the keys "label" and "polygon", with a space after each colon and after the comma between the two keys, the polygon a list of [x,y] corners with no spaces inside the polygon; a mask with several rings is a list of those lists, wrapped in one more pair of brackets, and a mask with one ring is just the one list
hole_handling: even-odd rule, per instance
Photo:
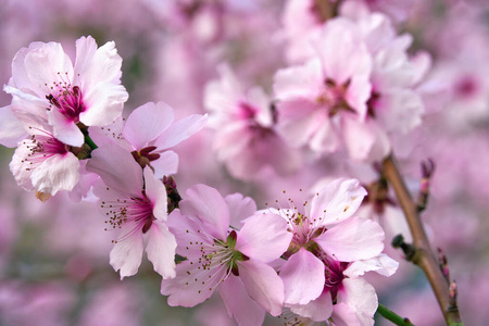
{"label": "pale speckled petal pointing up-right on the lower-right sharp blossom", "polygon": [[310,216],[322,225],[342,222],[352,216],[367,195],[356,179],[336,179],[311,201]]}

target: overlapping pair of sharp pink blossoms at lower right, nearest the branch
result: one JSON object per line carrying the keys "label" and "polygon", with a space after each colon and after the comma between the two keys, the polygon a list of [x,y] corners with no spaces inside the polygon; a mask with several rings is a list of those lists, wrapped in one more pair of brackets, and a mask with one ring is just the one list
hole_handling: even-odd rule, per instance
{"label": "overlapping pair of sharp pink blossoms at lower right, nearest the branch", "polygon": [[[341,318],[356,315],[360,325],[373,323],[377,297],[359,276],[366,271],[391,275],[397,263],[381,255],[381,227],[352,216],[365,195],[358,180],[337,179],[317,192],[311,204],[304,203],[303,211],[293,202],[291,209],[271,210],[287,221],[293,235],[285,254],[288,261],[279,272],[285,305],[293,313],[322,322],[335,311]],[[365,293],[360,301],[361,291]]]}

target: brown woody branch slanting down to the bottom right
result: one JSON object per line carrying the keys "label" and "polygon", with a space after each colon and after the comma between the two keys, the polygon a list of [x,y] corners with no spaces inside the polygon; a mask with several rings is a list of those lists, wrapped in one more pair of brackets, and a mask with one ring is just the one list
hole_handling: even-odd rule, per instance
{"label": "brown woody branch slanting down to the bottom right", "polygon": [[453,298],[455,294],[453,294],[453,291],[450,291],[451,285],[430,249],[426,231],[417,212],[417,204],[413,201],[392,154],[384,161],[383,174],[396,191],[413,236],[415,251],[411,261],[418,265],[428,278],[447,325],[463,325],[456,300]]}

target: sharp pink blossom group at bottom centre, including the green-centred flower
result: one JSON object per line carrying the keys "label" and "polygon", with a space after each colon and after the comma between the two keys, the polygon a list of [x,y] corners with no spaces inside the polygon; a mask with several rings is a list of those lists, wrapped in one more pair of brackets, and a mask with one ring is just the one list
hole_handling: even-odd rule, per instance
{"label": "sharp pink blossom group at bottom centre, including the green-centred flower", "polygon": [[283,308],[314,322],[373,325],[377,296],[361,276],[390,276],[398,263],[381,253],[381,227],[353,217],[365,195],[358,180],[337,179],[303,210],[290,202],[256,211],[250,198],[196,185],[168,216],[185,260],[161,292],[171,305],[193,306],[218,289],[239,325],[261,325]]}

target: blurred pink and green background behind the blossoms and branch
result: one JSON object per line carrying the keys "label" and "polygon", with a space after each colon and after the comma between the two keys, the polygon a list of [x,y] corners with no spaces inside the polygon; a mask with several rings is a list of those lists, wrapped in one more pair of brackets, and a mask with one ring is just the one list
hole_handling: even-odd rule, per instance
{"label": "blurred pink and green background behind the blossoms and branch", "polygon": [[[304,0],[305,1],[305,0]],[[359,0],[360,1],[360,0]],[[400,4],[400,2],[402,2]],[[152,101],[165,101],[177,117],[204,113],[203,91],[228,63],[243,87],[272,95],[275,72],[287,66],[284,32],[288,1],[266,0],[0,0],[0,82],[11,77],[17,50],[33,41],[57,41],[74,60],[75,40],[91,35],[99,46],[114,40],[123,58],[122,84],[129,92],[125,115]],[[431,70],[417,89],[426,114],[400,161],[417,191],[419,162],[436,163],[431,197],[423,214],[434,248],[449,259],[459,285],[465,325],[486,325],[489,311],[489,7],[486,1],[365,0],[391,17],[398,33],[414,37],[410,52],[426,50]],[[0,106],[11,97],[0,93]],[[340,160],[305,160],[290,176],[264,171],[234,178],[216,160],[213,131],[179,145],[180,193],[203,183],[223,195],[239,191],[259,206],[283,189],[312,189],[322,177],[359,177]],[[14,149],[0,147],[0,325],[234,325],[221,299],[195,309],[168,308],[160,276],[143,263],[121,281],[109,265],[112,236],[93,202],[75,203],[59,193],[41,203],[17,187],[9,171]],[[196,164],[199,162],[199,164]],[[359,176],[360,175],[360,176]],[[281,199],[280,199],[281,200]],[[399,227],[385,223],[386,251],[401,262],[390,277],[368,280],[379,302],[415,325],[443,325],[423,273],[390,248]],[[396,223],[393,223],[396,224]],[[268,325],[281,325],[267,317]],[[377,324],[376,324],[377,325]],[[378,325],[389,325],[378,321]]]}

